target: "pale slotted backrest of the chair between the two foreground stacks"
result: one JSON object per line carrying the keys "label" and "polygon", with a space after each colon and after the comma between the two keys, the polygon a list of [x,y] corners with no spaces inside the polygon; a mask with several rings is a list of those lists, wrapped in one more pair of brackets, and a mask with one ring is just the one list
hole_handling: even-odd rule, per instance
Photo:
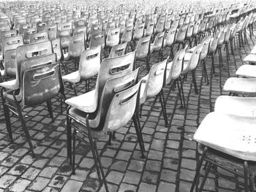
{"label": "pale slotted backrest of the chair between the two foreground stacks", "polygon": [[88,80],[99,73],[101,62],[101,47],[83,50],[80,55],[79,74],[81,80]]}

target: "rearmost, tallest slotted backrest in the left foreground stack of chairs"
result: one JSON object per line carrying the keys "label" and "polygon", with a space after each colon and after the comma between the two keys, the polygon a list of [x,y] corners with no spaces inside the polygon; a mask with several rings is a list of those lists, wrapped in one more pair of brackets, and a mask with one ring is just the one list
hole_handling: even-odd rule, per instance
{"label": "rearmost, tallest slotted backrest in the left foreground stack of chairs", "polygon": [[16,49],[16,83],[20,85],[20,64],[22,61],[31,58],[38,58],[42,55],[49,55],[53,53],[53,47],[50,41],[37,42],[29,45],[21,45]]}

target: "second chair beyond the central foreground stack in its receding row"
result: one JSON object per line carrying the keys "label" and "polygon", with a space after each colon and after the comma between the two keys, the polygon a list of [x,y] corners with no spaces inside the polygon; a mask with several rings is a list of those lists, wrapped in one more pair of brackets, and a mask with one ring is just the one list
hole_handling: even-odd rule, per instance
{"label": "second chair beyond the central foreground stack in its receding row", "polygon": [[[165,85],[171,84],[171,88],[174,88],[175,85],[178,86],[178,95],[181,100],[181,107],[186,107],[180,74],[187,47],[188,46],[186,46],[183,50],[178,50],[173,58],[173,61],[167,64],[165,76]],[[179,84],[179,82],[181,83],[181,85]]]}

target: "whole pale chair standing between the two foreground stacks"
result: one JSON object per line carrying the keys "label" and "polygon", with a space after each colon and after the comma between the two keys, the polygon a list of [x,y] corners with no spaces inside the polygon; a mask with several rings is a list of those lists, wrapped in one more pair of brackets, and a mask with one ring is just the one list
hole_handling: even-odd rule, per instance
{"label": "whole pale chair standing between the two foreground stacks", "polygon": [[72,90],[77,96],[77,91],[75,89],[78,82],[86,81],[86,92],[89,91],[89,80],[94,77],[99,72],[101,62],[101,47],[94,47],[90,50],[83,50],[80,55],[80,62],[78,66],[78,71],[66,74],[62,77],[64,82],[69,82]]}

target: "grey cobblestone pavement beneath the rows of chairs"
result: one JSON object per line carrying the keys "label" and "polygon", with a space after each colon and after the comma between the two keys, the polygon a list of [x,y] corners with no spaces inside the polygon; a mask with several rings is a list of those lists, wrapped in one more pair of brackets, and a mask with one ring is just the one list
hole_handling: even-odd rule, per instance
{"label": "grey cobblestone pavement beneath the rows of chairs", "polygon": [[[222,51],[224,66],[221,69],[218,55],[214,56],[215,74],[211,72],[211,59],[208,58],[209,85],[202,78],[202,67],[197,68],[198,95],[189,74],[184,82],[187,110],[181,107],[177,89],[173,91],[170,86],[165,86],[170,126],[165,127],[159,101],[146,101],[140,118],[146,158],[140,158],[133,123],[120,128],[111,145],[108,145],[108,138],[99,141],[102,165],[111,192],[189,191],[196,166],[197,145],[192,141],[193,133],[208,112],[214,110],[217,97],[228,94],[222,91],[225,80],[236,76],[236,69],[243,64],[243,58],[256,42],[255,37],[247,37],[248,43],[241,50],[236,49],[234,55],[230,54],[230,61]],[[166,58],[169,49],[164,53]],[[151,64],[154,63],[157,63],[157,54],[151,58]],[[141,66],[140,77],[143,77],[146,74],[145,64],[138,62],[138,65]],[[80,85],[78,93],[83,93],[83,90],[84,85]],[[72,92],[66,93],[67,98],[74,96]],[[25,110],[26,124],[36,153],[32,157],[20,121],[14,115],[11,117],[14,142],[10,143],[1,106],[0,192],[105,191],[97,179],[90,148],[81,142],[77,142],[76,147],[76,174],[71,174],[67,163],[65,114],[66,111],[61,114],[59,99],[53,101],[54,122],[49,118],[46,104]],[[215,191],[213,178],[211,176],[207,180],[206,191]],[[235,188],[234,183],[219,179],[219,191],[235,191]]]}

